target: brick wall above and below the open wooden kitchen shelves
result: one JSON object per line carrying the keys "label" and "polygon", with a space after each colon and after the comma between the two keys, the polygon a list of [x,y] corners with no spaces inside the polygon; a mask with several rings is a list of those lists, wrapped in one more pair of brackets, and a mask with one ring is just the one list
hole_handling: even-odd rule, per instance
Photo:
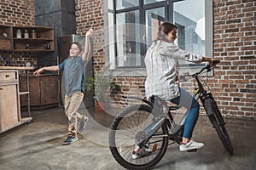
{"label": "brick wall above and below the open wooden kitchen shelves", "polygon": [[[3,26],[35,26],[34,0],[1,0],[0,25]],[[32,53],[0,51],[3,59],[9,59],[11,66],[25,66],[26,62],[37,65],[37,57]],[[0,61],[4,65],[4,61]]]}

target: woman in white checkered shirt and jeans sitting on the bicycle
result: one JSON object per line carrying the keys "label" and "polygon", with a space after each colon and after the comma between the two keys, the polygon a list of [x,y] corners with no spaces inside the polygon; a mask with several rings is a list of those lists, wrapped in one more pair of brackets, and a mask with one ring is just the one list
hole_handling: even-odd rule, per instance
{"label": "woman in white checkered shirt and jeans sitting on the bicycle", "polygon": [[[188,109],[188,116],[184,122],[183,141],[179,146],[180,151],[200,149],[204,146],[192,140],[192,133],[199,115],[199,103],[183,88],[177,86],[178,59],[201,63],[207,61],[212,65],[214,60],[201,55],[190,54],[174,45],[177,38],[177,26],[171,23],[163,23],[160,26],[158,37],[148,48],[145,56],[145,65],[148,77],[145,82],[147,98],[157,95],[174,104]],[[137,158],[136,147],[133,150],[133,158]]]}

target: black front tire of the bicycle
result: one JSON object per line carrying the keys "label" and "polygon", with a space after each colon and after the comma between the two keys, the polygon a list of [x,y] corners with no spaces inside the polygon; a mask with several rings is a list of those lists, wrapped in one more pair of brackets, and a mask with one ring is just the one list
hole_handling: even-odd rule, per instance
{"label": "black front tire of the bicycle", "polygon": [[233,146],[230,141],[229,134],[224,127],[224,119],[221,116],[220,111],[218,110],[218,106],[211,100],[211,109],[212,115],[209,115],[210,122],[212,122],[212,126],[215,128],[218,133],[218,137],[221,143],[224,145],[225,150],[227,150],[230,156],[233,156]]}

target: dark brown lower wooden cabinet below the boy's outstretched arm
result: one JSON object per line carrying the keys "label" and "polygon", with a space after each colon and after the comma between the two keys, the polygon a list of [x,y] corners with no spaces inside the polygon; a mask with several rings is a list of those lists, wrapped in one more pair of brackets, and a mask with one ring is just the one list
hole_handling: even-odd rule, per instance
{"label": "dark brown lower wooden cabinet below the boy's outstretched arm", "polygon": [[[20,91],[26,89],[26,77],[20,76]],[[42,74],[39,77],[29,76],[29,94],[31,110],[42,110],[59,105],[58,76]],[[26,111],[26,96],[20,96],[21,111]]]}

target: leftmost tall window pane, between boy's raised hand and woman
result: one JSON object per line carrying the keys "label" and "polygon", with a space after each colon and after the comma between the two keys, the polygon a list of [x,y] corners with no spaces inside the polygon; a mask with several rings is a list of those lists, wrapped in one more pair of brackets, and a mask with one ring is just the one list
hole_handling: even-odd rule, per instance
{"label": "leftmost tall window pane, between boy's raised hand and woman", "polygon": [[139,11],[117,14],[117,66],[141,66]]}

